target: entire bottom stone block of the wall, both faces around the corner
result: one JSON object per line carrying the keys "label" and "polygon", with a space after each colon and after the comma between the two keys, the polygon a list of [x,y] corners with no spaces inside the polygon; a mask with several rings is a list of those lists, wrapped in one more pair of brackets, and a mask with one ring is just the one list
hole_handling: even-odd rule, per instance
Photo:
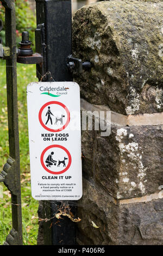
{"label": "entire bottom stone block of the wall, both faces around the corner", "polygon": [[[83,180],[79,200],[79,245],[162,245],[163,199],[120,205],[102,188]],[[99,228],[92,226],[92,221]]]}

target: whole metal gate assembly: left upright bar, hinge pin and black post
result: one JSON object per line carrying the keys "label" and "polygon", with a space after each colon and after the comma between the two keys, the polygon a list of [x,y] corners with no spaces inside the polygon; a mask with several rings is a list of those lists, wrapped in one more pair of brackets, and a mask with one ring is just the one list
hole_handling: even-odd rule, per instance
{"label": "whole metal gate assembly: left upright bar, hinge pin and black post", "polygon": [[[18,141],[17,77],[16,62],[36,64],[37,77],[41,81],[72,81],[69,68],[76,66],[81,70],[82,60],[73,58],[71,33],[71,0],[36,0],[37,28],[35,31],[36,52],[31,51],[28,34],[23,32],[22,44],[16,50],[15,1],[2,0],[5,8],[5,41],[0,41],[0,57],[6,59],[7,69],[7,104],[10,156],[0,174],[0,182],[11,192],[12,229],[4,245],[22,245],[22,213],[20,184],[20,153]],[[1,25],[1,24],[0,24]],[[2,26],[0,26],[0,31]],[[26,44],[27,43],[27,44]],[[67,60],[67,62],[66,62]],[[70,66],[71,63],[71,66]],[[73,65],[72,65],[73,63]],[[75,64],[74,64],[75,63]],[[46,206],[50,206],[49,208]],[[52,211],[60,202],[44,202],[45,216],[52,217]],[[75,207],[74,207],[75,210]],[[54,218],[53,218],[54,222]],[[73,245],[76,243],[75,225],[67,218],[60,228],[56,225],[49,229],[49,222],[44,223],[45,245]],[[59,243],[59,241],[62,241]]]}

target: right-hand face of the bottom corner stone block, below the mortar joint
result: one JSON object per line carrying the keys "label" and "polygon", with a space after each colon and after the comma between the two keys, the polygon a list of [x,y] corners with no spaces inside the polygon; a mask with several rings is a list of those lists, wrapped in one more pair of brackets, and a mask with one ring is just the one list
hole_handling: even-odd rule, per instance
{"label": "right-hand face of the bottom corner stone block, below the mortar joint", "polygon": [[120,206],[120,245],[162,245],[163,199]]}

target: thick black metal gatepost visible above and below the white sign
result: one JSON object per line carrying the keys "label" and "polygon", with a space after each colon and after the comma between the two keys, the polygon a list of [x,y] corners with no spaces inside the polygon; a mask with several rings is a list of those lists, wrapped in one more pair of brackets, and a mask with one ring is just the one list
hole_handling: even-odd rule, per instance
{"label": "thick black metal gatepost visible above and below the white sign", "polygon": [[[66,58],[72,54],[72,14],[71,0],[36,0],[37,28],[42,27],[42,48],[39,33],[36,33],[36,52],[43,54],[43,66],[37,65],[37,75],[41,81],[72,81],[72,75],[66,67]],[[41,74],[40,74],[41,72]],[[61,202],[44,202],[44,208],[51,207],[51,217]],[[49,214],[49,212],[47,213]],[[45,223],[45,244],[74,245],[76,226],[67,217],[56,225],[53,218],[52,228]],[[47,224],[47,225],[46,225]]]}

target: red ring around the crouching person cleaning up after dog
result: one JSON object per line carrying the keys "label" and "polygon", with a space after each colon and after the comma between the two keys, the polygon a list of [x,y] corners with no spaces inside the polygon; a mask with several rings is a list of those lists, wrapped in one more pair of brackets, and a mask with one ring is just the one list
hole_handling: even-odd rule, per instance
{"label": "red ring around the crouching person cleaning up after dog", "polygon": [[[51,148],[60,148],[60,149],[64,150],[64,151],[67,153],[67,155],[68,155],[68,164],[67,164],[66,168],[63,169],[63,170],[61,170],[60,172],[52,172],[52,170],[49,170],[49,169],[45,166],[45,164],[44,164],[44,162],[43,162],[43,156],[45,155],[46,151],[47,151],[48,149],[51,149]],[[52,173],[52,174],[61,174],[61,173],[65,173],[66,170],[68,170],[68,168],[70,168],[70,166],[71,166],[71,161],[72,161],[70,152],[69,152],[65,147],[63,147],[63,146],[61,146],[61,145],[50,145],[50,146],[48,146],[47,148],[45,148],[45,149],[42,151],[40,160],[41,160],[41,164],[42,164],[43,169],[45,169],[48,173]]]}

